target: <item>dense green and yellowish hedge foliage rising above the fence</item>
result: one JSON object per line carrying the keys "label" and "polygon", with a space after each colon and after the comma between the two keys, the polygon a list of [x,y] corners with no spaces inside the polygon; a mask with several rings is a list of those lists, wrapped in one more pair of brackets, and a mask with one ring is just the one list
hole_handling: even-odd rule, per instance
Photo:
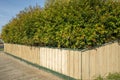
{"label": "dense green and yellowish hedge foliage rising above the fence", "polygon": [[56,1],[21,11],[2,29],[5,43],[83,49],[120,39],[120,3]]}

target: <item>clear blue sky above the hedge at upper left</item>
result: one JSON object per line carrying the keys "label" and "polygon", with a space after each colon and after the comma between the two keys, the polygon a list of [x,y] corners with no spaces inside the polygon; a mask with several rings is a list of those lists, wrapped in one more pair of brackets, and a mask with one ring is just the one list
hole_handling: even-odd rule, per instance
{"label": "clear blue sky above the hedge at upper left", "polygon": [[44,7],[45,0],[0,0],[0,33],[2,27],[29,6]]}

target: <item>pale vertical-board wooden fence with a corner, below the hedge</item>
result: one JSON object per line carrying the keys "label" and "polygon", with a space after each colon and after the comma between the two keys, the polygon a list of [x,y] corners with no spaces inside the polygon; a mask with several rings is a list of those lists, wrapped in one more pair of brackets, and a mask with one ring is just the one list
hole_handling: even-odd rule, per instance
{"label": "pale vertical-board wooden fence with a corner, below the hedge", "polygon": [[4,44],[4,51],[77,80],[120,72],[118,42],[86,51]]}

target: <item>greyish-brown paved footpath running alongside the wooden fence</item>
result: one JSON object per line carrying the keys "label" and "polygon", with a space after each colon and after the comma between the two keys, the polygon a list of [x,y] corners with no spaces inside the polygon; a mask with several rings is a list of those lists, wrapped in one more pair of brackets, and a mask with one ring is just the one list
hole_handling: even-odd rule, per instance
{"label": "greyish-brown paved footpath running alongside the wooden fence", "polygon": [[63,80],[0,52],[0,80]]}

